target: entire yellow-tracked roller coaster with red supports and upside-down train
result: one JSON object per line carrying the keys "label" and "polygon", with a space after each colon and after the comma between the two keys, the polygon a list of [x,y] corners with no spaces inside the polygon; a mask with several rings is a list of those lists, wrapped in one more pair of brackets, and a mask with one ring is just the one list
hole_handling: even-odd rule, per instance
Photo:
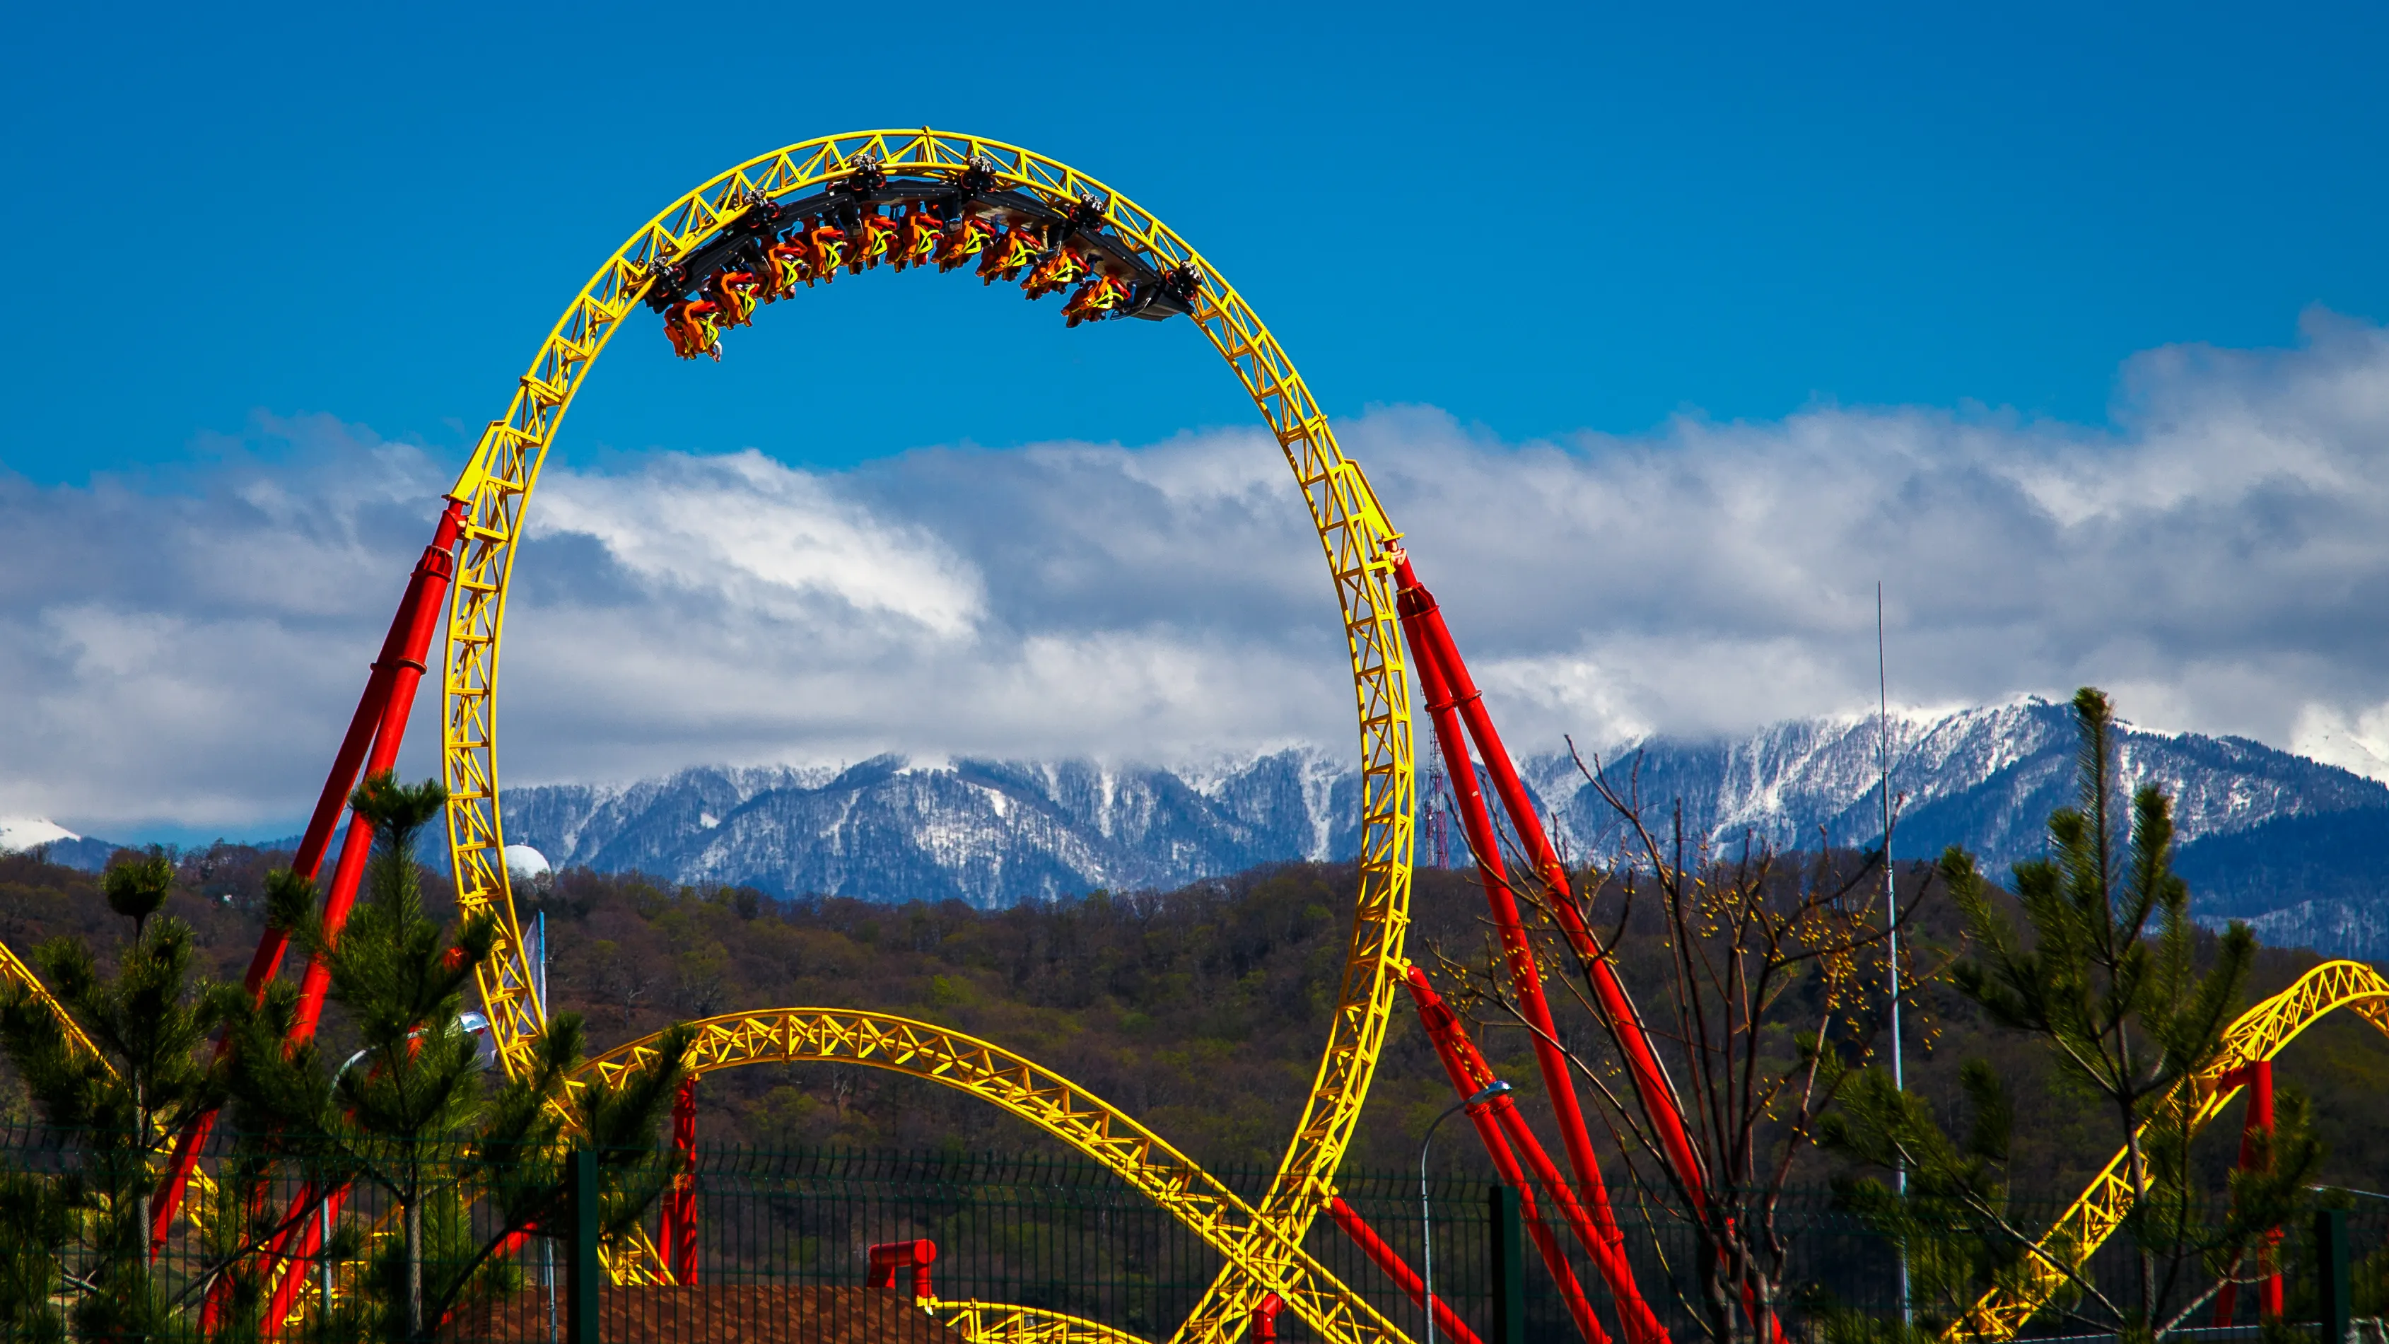
{"label": "entire yellow-tracked roller coaster with red supports and upside-down train", "polygon": [[[1328,418],[1292,360],[1218,270],[1111,186],[1018,146],[932,129],[800,141],[741,162],[671,201],[597,267],[516,380],[504,415],[480,434],[370,666],[366,692],[291,862],[299,876],[315,881],[330,859],[325,929],[337,936],[346,919],[373,840],[370,826],[351,819],[337,857],[330,855],[349,793],[361,776],[397,762],[416,690],[430,671],[432,637],[444,635],[440,738],[456,898],[461,912],[490,914],[499,926],[499,945],[478,974],[497,1060],[509,1072],[530,1065],[547,1005],[526,957],[502,857],[497,666],[514,559],[547,451],[597,356],[640,310],[662,320],[662,334],[676,356],[719,360],[762,306],[879,267],[968,267],[984,286],[1003,282],[1030,301],[1061,296],[1061,317],[1070,327],[1185,317],[1228,363],[1278,439],[1319,535],[1343,616],[1359,726],[1359,881],[1328,1038],[1276,1177],[1252,1198],[1238,1196],[1163,1136],[1054,1069],[927,1022],[858,1007],[733,1012],[695,1024],[693,1072],[753,1062],[865,1065],[965,1091],[1070,1143],[1221,1253],[1218,1277],[1178,1327],[1173,1344],[1273,1337],[1271,1323],[1281,1308],[1324,1342],[1407,1344],[1383,1313],[1304,1251],[1312,1225],[1328,1215],[1412,1301],[1424,1299],[1419,1275],[1335,1196],[1335,1170],[1369,1096],[1390,1015],[1407,995],[1455,1096],[1474,1098],[1467,1115],[1498,1172],[1522,1191],[1524,1229],[1579,1334],[1589,1344],[1610,1339],[1593,1294],[1577,1282],[1562,1237],[1574,1239],[1593,1265],[1608,1299],[1608,1320],[1627,1342],[1665,1344],[1668,1332],[1634,1282],[1608,1208],[1591,1129],[1550,1031],[1541,969],[1527,945],[1510,878],[1500,871],[1503,845],[1479,778],[1493,785],[1510,833],[1534,867],[1534,881],[1565,890],[1567,871],[1436,599],[1417,578],[1402,532],[1386,518],[1359,463],[1338,449]],[[1541,1027],[1536,1067],[1562,1134],[1565,1172],[1527,1129],[1510,1096],[1486,1096],[1491,1067],[1460,1017],[1402,955],[1417,814],[1412,678],[1436,728],[1455,814],[1476,857],[1512,988],[1529,1024]],[[1555,900],[1550,910],[1567,941],[1593,967],[1593,1003],[1620,1046],[1627,1081],[1653,1120],[1660,1160],[1701,1201],[1708,1172],[1632,998],[1610,974],[1598,938],[1574,917],[1572,902]],[[280,976],[287,950],[287,931],[265,933],[246,974],[253,995]],[[5,948],[0,976],[31,986],[57,1010],[38,976]],[[320,962],[306,967],[294,1036],[313,1031],[327,979]],[[2195,1122],[2222,1115],[2246,1086],[2270,1098],[2270,1060],[2308,1024],[2341,1007],[2389,1031],[2389,981],[2358,962],[2329,962],[2248,1010],[2231,1029],[2227,1058],[2184,1084]],[[65,1010],[57,1012],[65,1017]],[[84,1048],[88,1050],[88,1041]],[[581,1079],[619,1074],[652,1053],[652,1038],[626,1043],[590,1060]],[[683,1091],[681,1101],[676,1141],[686,1146],[693,1143],[693,1093]],[[2250,1124],[2255,1122],[2253,1108]],[[208,1132],[208,1120],[201,1120],[177,1136],[153,1201],[153,1246],[165,1246],[177,1225],[191,1225],[208,1206],[205,1198],[184,1198],[186,1189],[205,1182],[198,1158]],[[2121,1225],[2136,1196],[2119,1153],[2033,1246],[2023,1272],[1952,1325],[1949,1339],[2014,1337]],[[337,1201],[337,1191],[332,1198]],[[604,1263],[616,1282],[693,1282],[695,1225],[693,1206],[683,1198],[686,1189],[664,1196],[657,1234],[633,1232],[607,1249]],[[318,1291],[311,1275],[287,1268],[315,1253],[313,1237],[323,1220],[294,1220],[291,1227],[294,1239],[272,1249],[284,1270],[272,1287],[268,1320],[303,1320],[308,1294]],[[1433,1311],[1441,1334],[1476,1344],[1441,1301],[1421,1306]],[[1092,1320],[1027,1306],[932,1296],[925,1308],[984,1344],[1132,1339]]]}

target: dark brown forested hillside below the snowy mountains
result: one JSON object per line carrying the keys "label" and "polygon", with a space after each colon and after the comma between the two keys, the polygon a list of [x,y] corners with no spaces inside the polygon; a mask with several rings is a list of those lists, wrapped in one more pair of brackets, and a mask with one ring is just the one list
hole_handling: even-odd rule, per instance
{"label": "dark brown forested hillside below the snowy mountains", "polygon": [[[287,855],[217,845],[182,855],[170,912],[198,929],[213,972],[239,976],[260,929],[265,871]],[[772,900],[753,888],[688,888],[571,869],[521,893],[523,917],[547,914],[549,995],[588,1015],[595,1046],[681,1017],[738,1007],[879,1007],[948,1024],[1039,1060],[1137,1115],[1211,1165],[1273,1165],[1319,1065],[1343,972],[1350,867],[1285,864],[1173,893],[1092,895],[979,912],[963,902],[874,905],[841,898]],[[1909,874],[1914,888],[1916,874]],[[1481,955],[1484,900],[1457,871],[1421,871],[1412,955]],[[19,952],[53,933],[115,938],[91,874],[0,857],[0,938]],[[1949,910],[1930,902],[1926,941],[1947,941]],[[1648,974],[1653,948],[1627,948]],[[2272,993],[2313,952],[2267,950],[2253,995]],[[1629,979],[1639,979],[1629,974]],[[1909,1077],[1954,1091],[1957,1062],[1990,1055],[2016,1089],[2019,1189],[2078,1189],[2105,1160],[2098,1117],[2059,1086],[2035,1046],[1985,1029],[1947,991],[1911,1029]],[[337,1029],[337,1024],[332,1027]],[[334,1041],[337,1043],[337,1041]],[[1488,1041],[1505,1077],[1529,1084],[1515,1031]],[[2332,1146],[2332,1179],[2377,1189],[2389,1170],[2389,1041],[2341,1015],[2281,1058],[2284,1086],[2315,1098]],[[1527,1086],[1536,1093],[1539,1089]],[[1046,1148],[1027,1124],[958,1093],[862,1067],[748,1067],[702,1084],[702,1136],[748,1146]],[[1407,1003],[1395,1012],[1352,1163],[1417,1163],[1421,1127],[1450,1101]],[[22,1112],[7,1081],[0,1108]],[[2207,1143],[2227,1163],[2236,1110]],[[2224,1134],[2229,1129],[2229,1134]],[[1464,1134],[1464,1132],[1450,1132]],[[1462,1141],[1438,1165],[1481,1170]],[[1816,1167],[1823,1179],[1825,1170]]]}

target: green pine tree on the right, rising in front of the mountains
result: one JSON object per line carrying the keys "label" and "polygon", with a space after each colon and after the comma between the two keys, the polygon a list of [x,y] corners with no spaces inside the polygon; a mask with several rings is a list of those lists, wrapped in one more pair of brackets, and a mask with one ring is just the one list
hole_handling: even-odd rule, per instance
{"label": "green pine tree on the right, rising in front of the mountains", "polygon": [[[2200,969],[2188,886],[2172,869],[2172,800],[2143,785],[2126,821],[2114,707],[2083,688],[2074,714],[2076,804],[2050,814],[2050,855],[2014,869],[2023,929],[1995,905],[1971,855],[1959,847],[1942,855],[1942,878],[1973,943],[1952,979],[1985,1017],[2040,1038],[2057,1069],[2109,1112],[2124,1175],[2141,1191],[2121,1227],[2133,1251],[2133,1291],[2114,1301],[2076,1277],[2059,1301],[2088,1303],[2126,1339],[2155,1339],[2188,1325],[2227,1277],[2248,1272],[2255,1239],[2293,1215],[2322,1151],[2305,1127],[2303,1098],[2284,1089],[2265,1160],[2231,1177],[2224,1225],[2203,1225],[2210,1191],[2191,1170],[2195,1098],[2184,1084],[2222,1058],[2255,938],[2231,921]],[[1961,1081],[1971,1112],[1961,1141],[1935,1124],[1923,1098],[1894,1091],[1873,1069],[1854,1079],[1823,1129],[1828,1146],[1909,1172],[1906,1201],[1880,1182],[1851,1182],[1844,1194],[1902,1239],[1918,1289],[1949,1311],[2014,1265],[2033,1237],[2007,1208],[2014,1103],[2004,1081],[1980,1060],[1969,1062]],[[1988,1222],[2004,1241],[1961,1246],[1933,1234],[1957,1220]],[[2215,1244],[2234,1251],[2215,1258]]]}

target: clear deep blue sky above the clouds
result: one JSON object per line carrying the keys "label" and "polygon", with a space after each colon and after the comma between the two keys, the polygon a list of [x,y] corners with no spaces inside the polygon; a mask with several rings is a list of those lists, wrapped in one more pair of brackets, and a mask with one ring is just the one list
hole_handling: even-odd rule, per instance
{"label": "clear deep blue sky above the clouds", "polygon": [[[452,451],[662,201],[870,124],[1075,162],[1194,239],[1331,411],[1510,439],[1811,403],[2098,423],[2133,351],[2389,315],[2377,7],[805,14],[14,17],[0,229],[48,275],[7,286],[0,466],[174,463],[253,411]],[[836,466],[1249,415],[1192,332],[1132,327],[874,277],[721,370],[619,341],[564,454]]]}

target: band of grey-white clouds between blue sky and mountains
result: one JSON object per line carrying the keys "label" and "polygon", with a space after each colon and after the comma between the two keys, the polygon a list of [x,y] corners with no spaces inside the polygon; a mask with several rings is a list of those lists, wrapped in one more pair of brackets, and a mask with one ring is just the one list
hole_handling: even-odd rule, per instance
{"label": "band of grey-white clouds between blue sky and mountains", "polygon": [[[2389,776],[2389,334],[2160,349],[2112,425],[1818,406],[1507,444],[1338,425],[1505,733],[1620,742],[2098,683],[2152,728]],[[258,418],[203,466],[0,480],[0,814],[301,814],[456,463]],[[566,454],[571,446],[566,444]],[[559,461],[516,563],[509,783],[884,750],[1187,762],[1352,740],[1259,430],[1123,449]],[[409,769],[437,711],[418,707]]]}

